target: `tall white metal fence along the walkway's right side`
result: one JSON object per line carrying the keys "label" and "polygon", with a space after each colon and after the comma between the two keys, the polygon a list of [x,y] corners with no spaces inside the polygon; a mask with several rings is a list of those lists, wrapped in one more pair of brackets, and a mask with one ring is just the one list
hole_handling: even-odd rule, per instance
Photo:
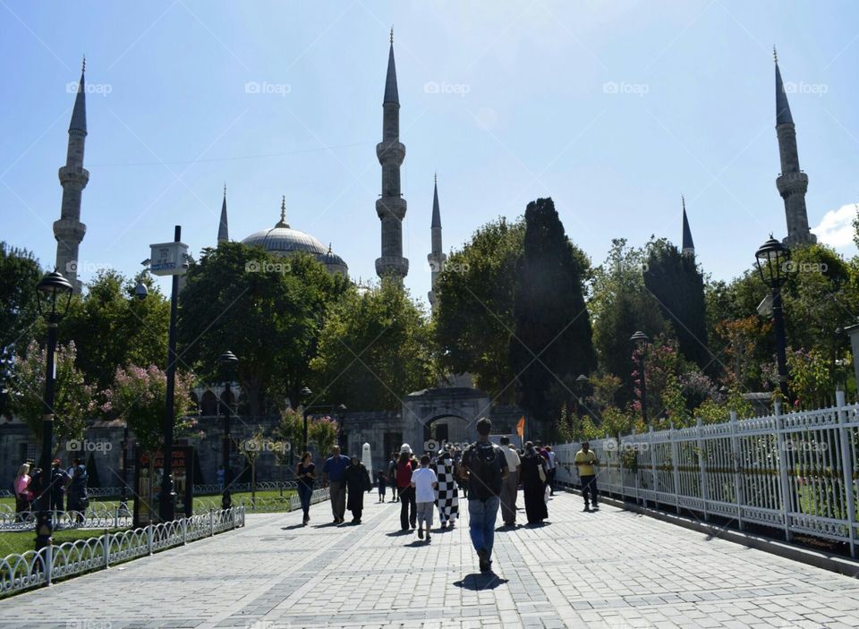
{"label": "tall white metal fence along the walkway's right side", "polygon": [[[846,543],[857,556],[859,404],[594,439],[601,493]],[[580,444],[557,446],[557,480],[577,485]]]}

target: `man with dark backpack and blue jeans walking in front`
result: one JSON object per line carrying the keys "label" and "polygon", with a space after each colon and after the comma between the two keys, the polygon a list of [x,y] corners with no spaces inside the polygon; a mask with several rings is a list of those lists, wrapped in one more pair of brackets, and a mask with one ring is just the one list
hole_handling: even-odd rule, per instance
{"label": "man with dark backpack and blue jeans walking in front", "polygon": [[477,441],[463,453],[463,468],[468,474],[468,528],[480,558],[481,573],[492,569],[492,544],[501,487],[509,473],[506,456],[500,447],[489,441],[491,430],[489,419],[478,420]]}

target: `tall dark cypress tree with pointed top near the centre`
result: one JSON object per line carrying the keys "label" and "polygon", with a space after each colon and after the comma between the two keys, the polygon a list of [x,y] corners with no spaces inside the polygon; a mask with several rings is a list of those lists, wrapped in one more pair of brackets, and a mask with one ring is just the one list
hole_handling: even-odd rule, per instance
{"label": "tall dark cypress tree with pointed top near the centre", "polygon": [[561,406],[574,401],[576,376],[596,366],[583,291],[588,266],[567,239],[552,200],[529,203],[516,264],[510,362],[517,374],[516,401],[540,423],[543,435]]}

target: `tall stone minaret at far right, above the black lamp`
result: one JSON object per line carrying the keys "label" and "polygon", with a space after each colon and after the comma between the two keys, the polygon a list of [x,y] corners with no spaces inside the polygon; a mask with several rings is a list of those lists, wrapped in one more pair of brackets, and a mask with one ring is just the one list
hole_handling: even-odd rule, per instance
{"label": "tall stone minaret at far right, above the black lamp", "polygon": [[817,237],[808,231],[808,211],[805,208],[805,191],[808,190],[808,175],[799,169],[799,153],[796,150],[796,130],[787,93],[778,70],[776,48],[772,48],[772,58],[776,62],[776,134],[778,135],[778,155],[781,157],[781,174],[776,186],[781,198],[785,200],[787,216],[787,238],[785,244],[811,244]]}

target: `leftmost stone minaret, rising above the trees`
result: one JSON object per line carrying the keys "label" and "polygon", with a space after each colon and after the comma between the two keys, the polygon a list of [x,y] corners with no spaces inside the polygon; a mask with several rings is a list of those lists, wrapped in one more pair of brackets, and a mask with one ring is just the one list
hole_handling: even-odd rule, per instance
{"label": "leftmost stone minaret, rising above the trees", "polygon": [[69,124],[69,149],[65,166],[60,168],[60,185],[63,186],[63,206],[60,219],[54,222],[56,238],[56,270],[62,273],[74,286],[75,293],[81,293],[78,280],[78,247],[87,233],[87,225],[81,223],[81,192],[89,182],[89,171],[83,167],[83,145],[87,138],[87,98],[84,88],[84,72],[87,59],[81,67],[81,81],[74,98],[72,123]]}

